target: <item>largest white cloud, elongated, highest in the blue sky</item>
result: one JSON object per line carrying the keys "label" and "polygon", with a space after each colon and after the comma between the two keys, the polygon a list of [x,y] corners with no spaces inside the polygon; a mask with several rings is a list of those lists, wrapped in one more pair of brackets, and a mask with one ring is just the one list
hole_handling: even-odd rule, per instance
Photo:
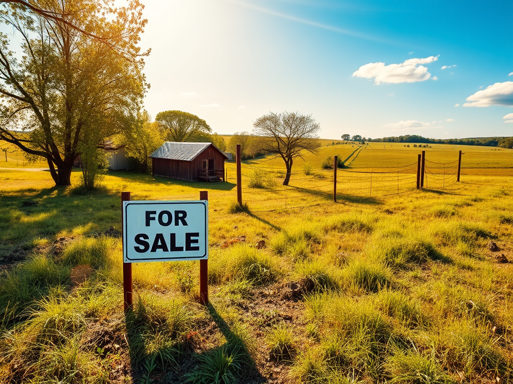
{"label": "largest white cloud, elongated, highest in the blue sky", "polygon": [[[427,68],[422,64],[428,64],[437,61],[438,56],[429,56],[426,58],[407,59],[400,64],[385,65],[384,62],[370,62],[361,66],[358,71],[352,75],[354,77],[363,77],[365,79],[374,79],[374,84],[424,81],[431,77]],[[435,79],[433,77],[433,79]]]}

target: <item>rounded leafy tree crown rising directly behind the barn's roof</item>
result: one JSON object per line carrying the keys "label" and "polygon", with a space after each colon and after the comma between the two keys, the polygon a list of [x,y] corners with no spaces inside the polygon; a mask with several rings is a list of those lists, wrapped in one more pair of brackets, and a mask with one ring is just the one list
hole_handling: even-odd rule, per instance
{"label": "rounded leafy tree crown rising directly behind the barn's roof", "polygon": [[168,141],[210,141],[212,129],[203,119],[182,111],[165,111],[155,116],[162,135]]}

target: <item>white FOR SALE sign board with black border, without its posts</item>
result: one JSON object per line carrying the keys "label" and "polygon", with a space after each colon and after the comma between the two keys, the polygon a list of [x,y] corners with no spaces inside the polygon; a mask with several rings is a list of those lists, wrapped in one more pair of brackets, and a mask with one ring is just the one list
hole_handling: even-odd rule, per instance
{"label": "white FOR SALE sign board with black border, without its posts", "polygon": [[208,259],[208,201],[124,201],[125,263]]}

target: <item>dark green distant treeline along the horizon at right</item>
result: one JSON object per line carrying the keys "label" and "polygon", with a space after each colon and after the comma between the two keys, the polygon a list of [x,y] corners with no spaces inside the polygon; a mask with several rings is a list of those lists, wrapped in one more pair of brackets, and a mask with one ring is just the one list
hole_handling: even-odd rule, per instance
{"label": "dark green distant treeline along the horizon at right", "polygon": [[367,139],[367,141],[386,143],[425,143],[425,144],[461,144],[513,147],[513,137],[469,137],[465,139],[428,139],[419,135],[404,135],[383,137],[381,139]]}

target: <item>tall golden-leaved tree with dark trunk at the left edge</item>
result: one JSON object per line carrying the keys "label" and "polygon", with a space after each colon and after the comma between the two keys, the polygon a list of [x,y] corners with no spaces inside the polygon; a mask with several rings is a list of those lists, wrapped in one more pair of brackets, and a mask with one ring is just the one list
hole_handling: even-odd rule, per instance
{"label": "tall golden-leaved tree with dark trunk at the left edge", "polygon": [[0,138],[44,157],[55,184],[70,185],[81,148],[96,147],[140,110],[143,7],[138,0],[121,8],[111,1],[47,0],[43,9],[54,16],[47,17],[0,3],[0,19],[22,41],[21,55],[0,34]]}

